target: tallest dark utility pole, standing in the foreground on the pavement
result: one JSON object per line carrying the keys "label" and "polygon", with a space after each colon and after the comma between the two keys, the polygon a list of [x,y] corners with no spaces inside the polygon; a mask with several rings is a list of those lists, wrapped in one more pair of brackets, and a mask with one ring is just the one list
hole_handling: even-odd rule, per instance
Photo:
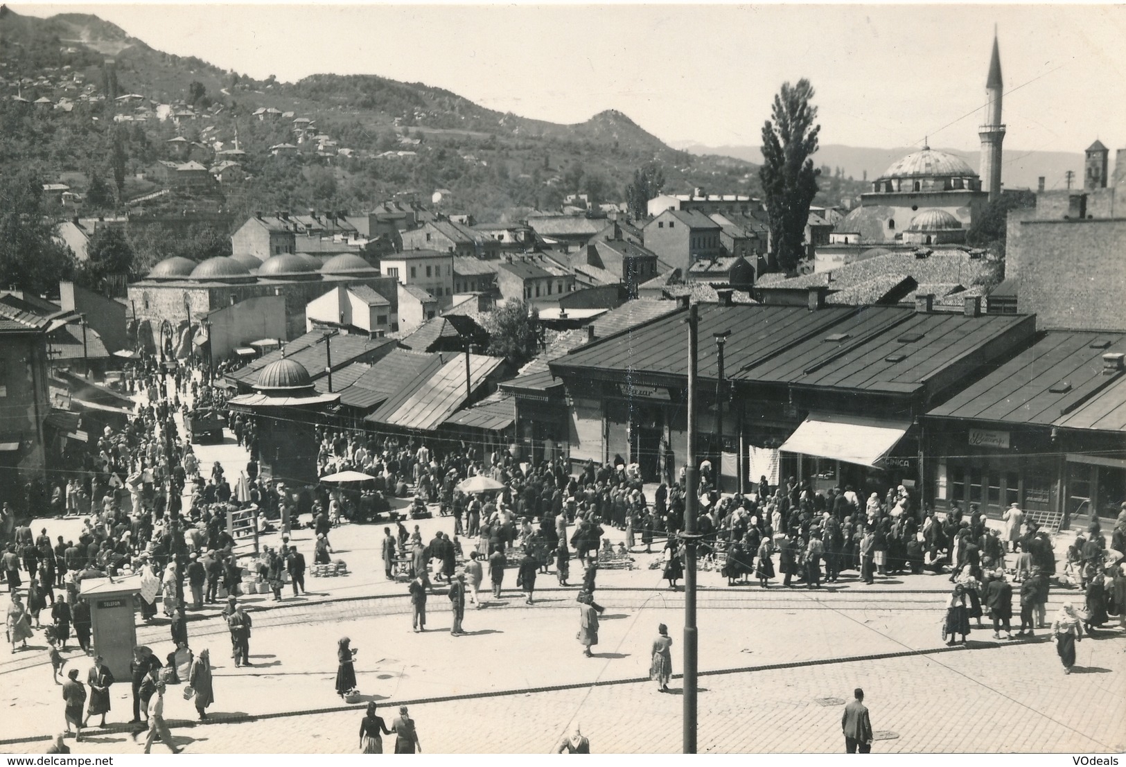
{"label": "tallest dark utility pole, standing in the foreground on the pavement", "polygon": [[696,506],[699,469],[696,463],[696,377],[699,349],[699,307],[688,305],[688,448],[685,455],[685,753],[696,753]]}

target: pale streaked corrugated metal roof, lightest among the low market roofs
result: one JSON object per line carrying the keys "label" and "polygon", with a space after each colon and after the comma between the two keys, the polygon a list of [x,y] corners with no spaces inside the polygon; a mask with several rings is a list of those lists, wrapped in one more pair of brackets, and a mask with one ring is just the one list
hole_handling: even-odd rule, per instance
{"label": "pale streaked corrugated metal roof, lightest among the low market roofs", "polygon": [[[470,355],[470,389],[481,386],[503,362],[500,357]],[[432,431],[461,408],[465,399],[465,358],[457,355],[417,386],[404,387],[365,420]]]}

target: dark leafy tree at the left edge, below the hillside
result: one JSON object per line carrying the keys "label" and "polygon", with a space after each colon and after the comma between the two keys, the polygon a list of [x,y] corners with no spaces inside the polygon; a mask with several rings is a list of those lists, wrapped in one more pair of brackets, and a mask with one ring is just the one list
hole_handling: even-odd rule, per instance
{"label": "dark leafy tree at the left edge, below the hillside", "polygon": [[44,293],[73,274],[74,255],[54,239],[45,213],[36,173],[0,172],[0,285]]}

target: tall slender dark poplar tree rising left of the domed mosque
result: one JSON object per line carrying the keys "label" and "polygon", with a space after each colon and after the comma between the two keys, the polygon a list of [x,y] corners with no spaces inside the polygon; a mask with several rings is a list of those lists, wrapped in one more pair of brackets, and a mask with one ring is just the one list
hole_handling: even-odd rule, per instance
{"label": "tall slender dark poplar tree rising left of the domed mosque", "polygon": [[813,86],[806,79],[796,86],[784,82],[775,96],[771,119],[762,125],[763,203],[770,222],[774,267],[793,271],[805,255],[802,241],[810,217],[810,203],[817,194],[820,171],[813,167],[817,151],[817,108],[810,104]]}

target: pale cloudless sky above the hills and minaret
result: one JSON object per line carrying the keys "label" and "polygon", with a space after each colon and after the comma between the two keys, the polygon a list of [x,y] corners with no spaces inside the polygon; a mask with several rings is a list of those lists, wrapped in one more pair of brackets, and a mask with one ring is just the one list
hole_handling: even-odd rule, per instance
{"label": "pale cloudless sky above the hills and minaret", "polygon": [[1007,150],[1126,148],[1126,5],[10,3],[293,81],[379,74],[556,123],[618,109],[665,142],[759,145],[807,78],[822,144],[978,145],[997,25]]}

